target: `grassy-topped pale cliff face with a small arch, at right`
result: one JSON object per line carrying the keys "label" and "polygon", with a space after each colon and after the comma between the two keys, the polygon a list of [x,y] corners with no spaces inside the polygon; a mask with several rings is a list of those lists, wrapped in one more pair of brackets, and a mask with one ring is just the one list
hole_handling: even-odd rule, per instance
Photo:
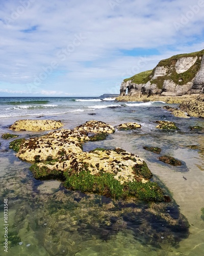
{"label": "grassy-topped pale cliff face with a small arch, at right", "polygon": [[181,96],[204,92],[204,50],[161,60],[154,70],[124,79],[120,96]]}

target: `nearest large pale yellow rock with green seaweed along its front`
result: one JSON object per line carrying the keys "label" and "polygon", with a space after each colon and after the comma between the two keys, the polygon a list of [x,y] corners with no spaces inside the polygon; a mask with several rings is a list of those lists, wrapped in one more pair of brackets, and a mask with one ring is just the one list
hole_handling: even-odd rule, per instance
{"label": "nearest large pale yellow rock with green seaweed along its front", "polygon": [[114,198],[164,200],[159,185],[149,181],[152,174],[144,160],[121,148],[69,154],[58,161],[35,163],[30,169],[38,179],[63,175],[69,189]]}

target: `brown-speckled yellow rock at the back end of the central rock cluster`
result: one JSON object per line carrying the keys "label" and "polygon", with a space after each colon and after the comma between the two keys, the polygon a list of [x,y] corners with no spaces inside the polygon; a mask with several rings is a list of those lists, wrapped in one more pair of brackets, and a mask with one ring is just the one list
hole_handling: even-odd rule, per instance
{"label": "brown-speckled yellow rock at the back end of the central rock cluster", "polygon": [[101,121],[87,121],[86,123],[79,125],[74,128],[74,130],[78,131],[87,131],[89,133],[114,133],[115,129],[112,125],[106,124]]}

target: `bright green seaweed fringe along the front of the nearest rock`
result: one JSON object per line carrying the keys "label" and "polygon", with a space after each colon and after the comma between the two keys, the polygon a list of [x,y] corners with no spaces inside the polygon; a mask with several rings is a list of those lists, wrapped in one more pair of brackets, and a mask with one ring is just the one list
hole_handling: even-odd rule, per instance
{"label": "bright green seaweed fringe along the front of the nearest rock", "polygon": [[125,182],[121,184],[114,179],[112,174],[101,173],[91,175],[90,172],[82,171],[79,174],[69,176],[65,173],[64,186],[72,190],[96,193],[116,199],[136,197],[147,201],[163,201],[162,189],[154,182]]}

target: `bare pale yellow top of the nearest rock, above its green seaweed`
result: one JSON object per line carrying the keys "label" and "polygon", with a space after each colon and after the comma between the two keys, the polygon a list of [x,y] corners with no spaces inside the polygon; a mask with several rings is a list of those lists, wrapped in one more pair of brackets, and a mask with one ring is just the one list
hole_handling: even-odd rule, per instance
{"label": "bare pale yellow top of the nearest rock, above its green seaweed", "polygon": [[[116,148],[117,150],[118,148]],[[119,148],[120,150],[120,148]],[[63,161],[62,161],[63,160]],[[138,176],[134,173],[133,167],[136,164],[143,165],[144,160],[132,153],[114,150],[94,152],[81,152],[77,154],[69,154],[59,159],[58,162],[51,164],[38,163],[38,167],[46,166],[49,170],[62,170],[67,172],[80,172],[81,170],[88,170],[91,175],[97,175],[101,172],[114,174],[114,178],[121,184],[125,181],[141,181],[146,183],[148,179]]]}

